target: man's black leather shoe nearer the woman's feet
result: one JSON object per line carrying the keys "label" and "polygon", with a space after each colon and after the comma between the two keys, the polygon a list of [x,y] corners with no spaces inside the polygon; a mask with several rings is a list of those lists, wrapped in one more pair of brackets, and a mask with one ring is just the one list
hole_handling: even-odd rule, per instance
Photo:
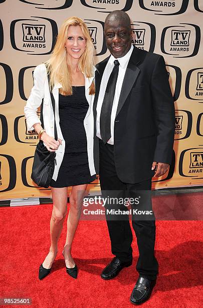
{"label": "man's black leather shoe nearer the woman's feet", "polygon": [[132,265],[132,260],[128,262],[121,262],[117,257],[114,257],[102,271],[101,278],[105,280],[112,279],[116,277],[124,267],[128,267],[130,265]]}

